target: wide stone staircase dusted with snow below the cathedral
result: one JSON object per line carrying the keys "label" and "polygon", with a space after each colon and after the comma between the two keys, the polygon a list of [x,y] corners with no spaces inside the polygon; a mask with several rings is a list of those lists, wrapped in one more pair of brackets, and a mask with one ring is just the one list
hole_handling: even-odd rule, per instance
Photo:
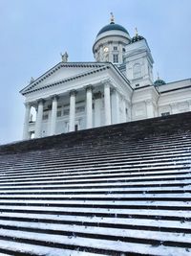
{"label": "wide stone staircase dusted with snow below the cathedral", "polygon": [[0,147],[0,255],[191,255],[191,113]]}

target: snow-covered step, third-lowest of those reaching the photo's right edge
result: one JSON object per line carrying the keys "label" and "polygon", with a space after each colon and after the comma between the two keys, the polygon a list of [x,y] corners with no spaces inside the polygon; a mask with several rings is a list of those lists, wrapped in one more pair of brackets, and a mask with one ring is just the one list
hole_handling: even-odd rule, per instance
{"label": "snow-covered step, third-lowest of those reaching the photo's right edge", "polygon": [[[71,223],[74,225],[102,226],[102,227],[122,227],[123,229],[146,229],[146,230],[172,230],[176,232],[191,233],[190,221],[165,221],[152,219],[136,218],[107,218],[107,217],[84,217],[84,216],[61,216],[61,215],[43,215],[43,214],[25,214],[25,213],[1,213],[0,220],[7,221],[31,221],[43,223]],[[182,231],[183,230],[183,231]]]}

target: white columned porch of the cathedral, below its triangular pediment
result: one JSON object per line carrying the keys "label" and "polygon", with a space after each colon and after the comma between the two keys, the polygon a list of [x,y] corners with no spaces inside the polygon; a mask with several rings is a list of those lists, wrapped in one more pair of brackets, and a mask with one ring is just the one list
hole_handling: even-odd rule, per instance
{"label": "white columned porch of the cathedral, below its triangular pediment", "polygon": [[[112,102],[114,95],[119,93],[112,82],[102,81],[26,103],[23,139],[30,139],[30,126],[34,137],[39,138],[118,123],[119,102]],[[36,119],[30,124],[32,106],[36,109]],[[118,113],[118,119],[112,118],[114,112]]]}

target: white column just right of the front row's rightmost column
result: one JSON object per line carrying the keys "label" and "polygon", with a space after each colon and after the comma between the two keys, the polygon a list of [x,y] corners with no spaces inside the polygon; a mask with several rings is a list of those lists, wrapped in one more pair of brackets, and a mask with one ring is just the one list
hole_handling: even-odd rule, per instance
{"label": "white column just right of the front row's rightmost column", "polygon": [[120,122],[119,97],[117,89],[112,89],[112,124]]}

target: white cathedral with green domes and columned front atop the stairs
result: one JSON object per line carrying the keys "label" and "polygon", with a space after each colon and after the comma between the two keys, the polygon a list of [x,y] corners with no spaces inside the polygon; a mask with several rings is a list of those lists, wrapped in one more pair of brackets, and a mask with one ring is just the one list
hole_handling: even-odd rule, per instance
{"label": "white cathedral with green domes and columned front atop the stairs", "polygon": [[21,90],[23,139],[191,111],[191,79],[154,82],[146,39],[131,37],[113,15],[96,35],[93,53],[95,62],[68,62],[65,53]]}

